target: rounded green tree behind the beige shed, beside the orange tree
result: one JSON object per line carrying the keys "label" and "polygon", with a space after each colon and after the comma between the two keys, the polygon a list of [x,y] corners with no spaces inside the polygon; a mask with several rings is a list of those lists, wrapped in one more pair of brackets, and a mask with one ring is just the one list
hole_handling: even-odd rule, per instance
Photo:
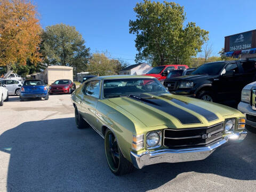
{"label": "rounded green tree behind the beige shed, beside the orange tree", "polygon": [[47,65],[74,67],[75,73],[86,69],[90,48],[81,34],[63,23],[47,26],[42,35],[41,52]]}

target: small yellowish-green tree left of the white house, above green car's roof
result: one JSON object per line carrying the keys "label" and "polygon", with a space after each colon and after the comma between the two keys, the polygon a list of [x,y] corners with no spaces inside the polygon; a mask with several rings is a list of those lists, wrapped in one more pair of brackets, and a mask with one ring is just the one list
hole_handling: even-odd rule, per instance
{"label": "small yellowish-green tree left of the white house, above green car's roof", "polygon": [[89,59],[88,70],[93,75],[117,75],[121,69],[121,62],[109,59],[107,53],[94,53]]}

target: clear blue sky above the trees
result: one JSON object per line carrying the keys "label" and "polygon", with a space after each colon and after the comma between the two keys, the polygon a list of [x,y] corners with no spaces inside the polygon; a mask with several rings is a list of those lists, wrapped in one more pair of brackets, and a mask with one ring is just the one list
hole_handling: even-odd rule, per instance
{"label": "clear blue sky above the trees", "polygon": [[[41,26],[65,23],[82,34],[91,53],[108,51],[111,58],[135,64],[135,35],[129,34],[129,20],[135,20],[134,0],[34,0]],[[163,1],[160,1],[163,2]],[[180,0],[185,24],[195,22],[209,31],[212,55],[224,47],[224,37],[256,29],[255,0]]]}

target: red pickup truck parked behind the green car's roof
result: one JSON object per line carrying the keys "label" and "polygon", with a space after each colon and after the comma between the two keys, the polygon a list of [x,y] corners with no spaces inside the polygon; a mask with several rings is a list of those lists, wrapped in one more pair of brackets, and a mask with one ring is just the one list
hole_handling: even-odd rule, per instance
{"label": "red pickup truck parked behind the green car's roof", "polygon": [[159,81],[165,79],[168,73],[173,69],[188,69],[187,65],[164,65],[164,66],[157,66],[148,71],[148,76],[156,77]]}

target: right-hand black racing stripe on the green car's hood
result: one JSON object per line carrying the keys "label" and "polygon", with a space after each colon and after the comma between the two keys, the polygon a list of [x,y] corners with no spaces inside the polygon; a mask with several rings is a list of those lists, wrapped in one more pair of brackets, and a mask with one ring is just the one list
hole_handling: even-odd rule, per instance
{"label": "right-hand black racing stripe on the green car's hood", "polygon": [[160,95],[159,97],[162,97],[164,99],[168,99],[168,100],[170,100],[170,101],[172,101],[172,102],[174,102],[174,103],[176,103],[176,104],[178,104],[182,107],[186,107],[187,109],[195,111],[196,113],[205,117],[208,122],[212,122],[212,121],[215,121],[215,120],[219,119],[219,117],[217,115],[215,115],[214,113],[212,113],[211,111],[209,111],[207,109],[204,109],[202,107],[196,106],[194,104],[187,103],[185,101],[181,101],[181,100],[174,99],[174,98],[171,98],[171,97],[167,97],[166,95]]}

